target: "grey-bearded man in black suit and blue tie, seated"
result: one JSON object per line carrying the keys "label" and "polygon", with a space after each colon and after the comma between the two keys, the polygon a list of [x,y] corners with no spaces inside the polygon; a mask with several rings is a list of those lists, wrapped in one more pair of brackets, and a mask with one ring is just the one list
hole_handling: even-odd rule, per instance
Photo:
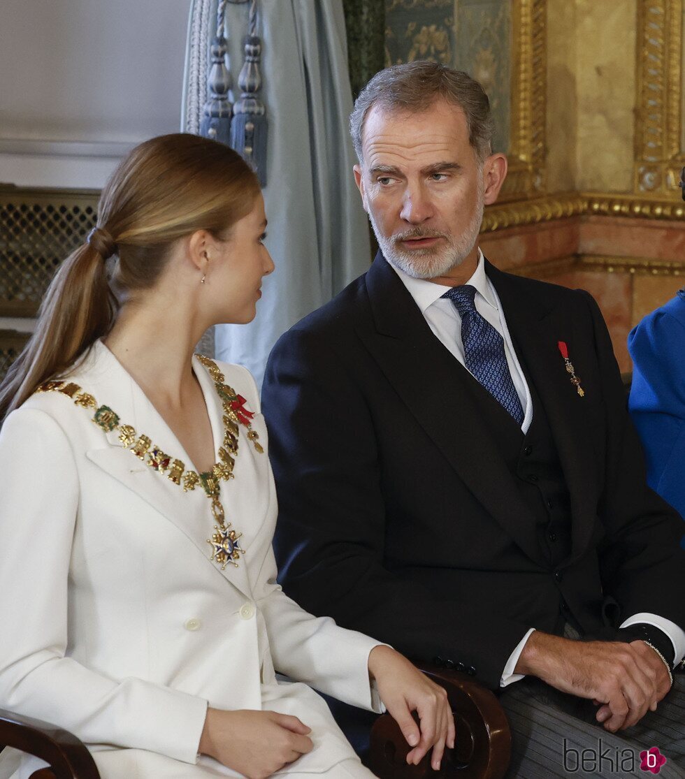
{"label": "grey-bearded man in black suit and blue tie, seated", "polygon": [[263,388],[286,591],[502,691],[511,776],[564,775],[562,735],[678,760],[682,525],[595,301],[478,249],[507,159],[466,74],[387,69],[351,129],[380,252],[281,337]]}

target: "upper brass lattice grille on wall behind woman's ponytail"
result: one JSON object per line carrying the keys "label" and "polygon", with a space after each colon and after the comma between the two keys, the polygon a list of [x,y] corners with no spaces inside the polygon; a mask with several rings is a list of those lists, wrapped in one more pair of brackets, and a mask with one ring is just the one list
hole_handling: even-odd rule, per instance
{"label": "upper brass lattice grille on wall behind woman's ponytail", "polygon": [[0,187],[0,316],[35,316],[97,218],[97,190]]}

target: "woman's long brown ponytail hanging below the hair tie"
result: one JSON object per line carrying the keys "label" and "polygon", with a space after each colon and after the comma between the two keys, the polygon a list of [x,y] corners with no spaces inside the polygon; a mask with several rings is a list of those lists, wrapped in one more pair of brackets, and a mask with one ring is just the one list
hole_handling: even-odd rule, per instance
{"label": "woman's long brown ponytail hanging below the hair tie", "polygon": [[105,260],[116,245],[103,230],[59,267],[41,303],[36,329],[0,386],[0,424],[38,386],[65,372],[114,323],[117,302]]}

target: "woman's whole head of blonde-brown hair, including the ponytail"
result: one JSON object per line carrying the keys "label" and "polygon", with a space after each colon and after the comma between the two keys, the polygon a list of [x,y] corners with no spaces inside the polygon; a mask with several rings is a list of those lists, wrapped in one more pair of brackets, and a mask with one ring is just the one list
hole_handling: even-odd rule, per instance
{"label": "woman's whole head of blonde-brown hair, including the ponytail", "polygon": [[0,423],[111,330],[119,302],[109,256],[117,256],[120,294],[152,287],[174,241],[196,230],[226,238],[259,191],[252,169],[223,143],[174,133],[136,146],[105,185],[97,227],[59,267],[33,336],[0,384]]}

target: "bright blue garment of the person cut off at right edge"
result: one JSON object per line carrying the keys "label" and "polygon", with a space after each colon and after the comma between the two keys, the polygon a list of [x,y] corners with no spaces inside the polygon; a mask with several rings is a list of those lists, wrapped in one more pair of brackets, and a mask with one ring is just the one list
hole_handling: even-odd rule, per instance
{"label": "bright blue garment of the person cut off at right edge", "polygon": [[649,485],[685,516],[685,292],[628,336],[630,414],[647,456]]}

